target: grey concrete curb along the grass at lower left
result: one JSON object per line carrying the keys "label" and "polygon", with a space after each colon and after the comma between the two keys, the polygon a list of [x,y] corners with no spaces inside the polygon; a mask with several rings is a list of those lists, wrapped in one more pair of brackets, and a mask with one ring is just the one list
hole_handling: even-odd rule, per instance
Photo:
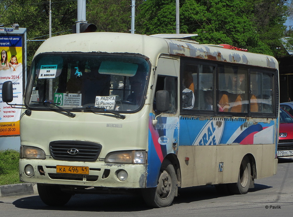
{"label": "grey concrete curb along the grass at lower left", "polygon": [[35,192],[38,192],[36,183],[0,185],[0,197],[31,195]]}

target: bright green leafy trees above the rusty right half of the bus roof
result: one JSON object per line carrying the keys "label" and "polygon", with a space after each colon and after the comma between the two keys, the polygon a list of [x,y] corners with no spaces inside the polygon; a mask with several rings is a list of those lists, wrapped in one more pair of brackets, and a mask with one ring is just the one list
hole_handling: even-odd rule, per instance
{"label": "bright green leafy trees above the rusty right half of the bus roof", "polygon": [[[137,32],[176,32],[175,1],[147,0],[139,11]],[[286,13],[285,0],[185,0],[180,1],[180,33],[197,33],[200,43],[278,56]]]}

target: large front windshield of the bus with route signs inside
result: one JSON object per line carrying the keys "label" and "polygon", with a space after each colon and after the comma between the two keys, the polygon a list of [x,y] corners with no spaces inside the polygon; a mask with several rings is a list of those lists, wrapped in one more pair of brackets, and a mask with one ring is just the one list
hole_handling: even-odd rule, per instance
{"label": "large front windshield of the bus with route signs inside", "polygon": [[42,54],[32,64],[26,104],[32,109],[57,109],[54,103],[67,110],[135,111],[145,98],[149,68],[142,57]]}

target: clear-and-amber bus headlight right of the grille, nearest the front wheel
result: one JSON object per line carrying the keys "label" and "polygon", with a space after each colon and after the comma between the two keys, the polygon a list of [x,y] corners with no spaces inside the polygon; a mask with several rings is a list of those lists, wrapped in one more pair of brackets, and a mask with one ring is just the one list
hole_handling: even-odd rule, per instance
{"label": "clear-and-amber bus headlight right of the grille, nearest the front wheel", "polygon": [[105,158],[106,163],[118,164],[145,164],[147,153],[145,151],[113,152]]}

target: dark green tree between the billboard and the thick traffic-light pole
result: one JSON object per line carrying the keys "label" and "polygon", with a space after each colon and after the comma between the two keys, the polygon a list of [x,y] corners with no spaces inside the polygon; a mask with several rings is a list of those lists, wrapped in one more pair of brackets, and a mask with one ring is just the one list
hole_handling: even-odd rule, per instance
{"label": "dark green tree between the billboard and the thick traffic-light pole", "polygon": [[[20,27],[27,28],[28,66],[42,43],[29,40],[49,38],[49,6],[49,1],[42,0],[0,1],[0,23],[10,27],[14,22],[18,22]],[[52,36],[71,33],[77,17],[77,2],[52,0],[51,11]]]}

